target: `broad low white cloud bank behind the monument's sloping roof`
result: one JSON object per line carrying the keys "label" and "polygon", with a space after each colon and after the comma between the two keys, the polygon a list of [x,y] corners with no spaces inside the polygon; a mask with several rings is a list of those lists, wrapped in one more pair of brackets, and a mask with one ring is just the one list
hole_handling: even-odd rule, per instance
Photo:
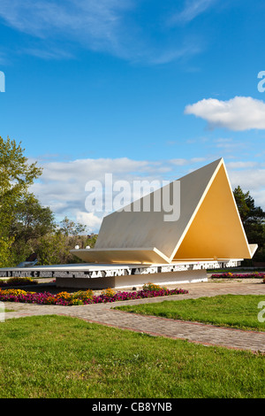
{"label": "broad low white cloud bank behind the monument's sloping roof", "polygon": [[[85,187],[88,181],[97,181],[102,186],[99,189],[99,195],[110,195],[110,186],[106,186],[106,173],[112,174],[113,184],[117,185],[116,193],[113,192],[112,202],[115,204],[115,196],[123,193],[122,181],[126,181],[125,195],[127,203],[138,199],[148,191],[143,186],[142,195],[137,186],[134,187],[133,181],[148,181],[151,185],[153,182],[158,188],[163,185],[163,181],[173,181],[178,177],[186,174],[184,166],[202,165],[203,158],[191,159],[172,159],[165,161],[147,161],[133,160],[130,158],[99,158],[99,159],[78,159],[72,161],[53,161],[45,162],[45,158],[39,158],[39,166],[43,167],[41,178],[34,183],[31,191],[37,196],[41,203],[49,206],[55,213],[57,220],[63,220],[64,216],[68,216],[72,220],[76,220],[88,226],[89,231],[97,232],[104,215],[109,214],[111,210],[104,211],[105,206],[101,210],[101,200],[96,205],[95,210],[87,212],[87,196],[89,192]],[[29,163],[33,163],[34,159],[29,159]],[[178,172],[176,172],[176,169]],[[184,170],[183,170],[184,169]],[[181,173],[181,174],[180,174]],[[165,177],[166,175],[166,177]],[[144,185],[144,182],[141,182]],[[152,189],[151,189],[152,190]],[[92,192],[92,190],[91,190]],[[99,198],[100,199],[100,198]],[[117,198],[119,199],[119,198]],[[91,205],[89,205],[91,206]],[[111,207],[111,203],[109,204]],[[113,208],[116,207],[113,205]]]}

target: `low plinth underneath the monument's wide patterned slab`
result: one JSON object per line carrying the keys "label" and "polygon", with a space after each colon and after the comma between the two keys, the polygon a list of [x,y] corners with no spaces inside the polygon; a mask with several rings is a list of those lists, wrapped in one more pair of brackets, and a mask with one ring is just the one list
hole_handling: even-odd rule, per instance
{"label": "low plinth underneath the monument's wide patterned slab", "polygon": [[151,282],[158,285],[178,285],[181,283],[194,283],[208,281],[206,270],[193,270],[184,272],[136,274],[123,276],[100,277],[97,279],[84,279],[57,277],[57,288],[72,289],[140,289],[143,284]]}

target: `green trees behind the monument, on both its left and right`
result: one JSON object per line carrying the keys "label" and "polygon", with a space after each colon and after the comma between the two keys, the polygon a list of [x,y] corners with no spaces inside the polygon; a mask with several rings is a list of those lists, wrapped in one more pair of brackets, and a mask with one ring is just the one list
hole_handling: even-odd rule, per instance
{"label": "green trees behind the monument, on both its left and right", "polygon": [[[70,250],[94,247],[96,235],[67,217],[58,224],[50,208],[29,192],[42,168],[28,163],[24,152],[21,143],[0,136],[0,267],[17,266],[32,253],[38,265],[77,263]],[[253,261],[265,262],[265,212],[239,186],[233,194],[248,242],[259,245]]]}

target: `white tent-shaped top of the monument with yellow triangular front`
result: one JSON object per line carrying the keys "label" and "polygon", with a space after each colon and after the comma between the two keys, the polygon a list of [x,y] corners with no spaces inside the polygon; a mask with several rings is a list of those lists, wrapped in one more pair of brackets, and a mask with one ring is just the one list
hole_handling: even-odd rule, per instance
{"label": "white tent-shaped top of the monument with yellow triangular front", "polygon": [[[223,158],[178,183],[178,220],[165,220],[163,204],[160,211],[135,212],[133,203],[103,219],[95,249],[72,253],[87,263],[116,264],[252,258],[257,245],[247,242]],[[163,190],[172,194],[173,189],[171,182]],[[137,206],[144,206],[147,198],[154,201],[157,193],[162,195],[161,189],[143,196]]]}

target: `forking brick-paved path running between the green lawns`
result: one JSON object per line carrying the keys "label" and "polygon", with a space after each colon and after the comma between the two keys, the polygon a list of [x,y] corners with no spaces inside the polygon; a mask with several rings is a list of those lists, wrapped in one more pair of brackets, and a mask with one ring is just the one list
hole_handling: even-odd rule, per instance
{"label": "forking brick-paved path running between the green lawns", "polygon": [[[38,304],[6,303],[6,308],[14,312],[6,312],[5,318],[20,318],[33,315],[58,314],[77,317],[112,327],[130,329],[151,335],[162,335],[170,338],[186,339],[204,345],[220,345],[240,350],[261,351],[265,353],[265,332],[243,331],[239,329],[215,327],[196,322],[167,320],[152,316],[140,316],[133,313],[111,309],[119,304],[142,304],[161,302],[162,300],[181,300],[186,298],[214,297],[216,295],[264,295],[265,284],[261,280],[203,282],[180,285],[188,289],[189,294],[172,297],[138,299],[117,302],[115,304],[87,304],[82,306],[57,306]],[[260,310],[257,307],[257,314]]]}

